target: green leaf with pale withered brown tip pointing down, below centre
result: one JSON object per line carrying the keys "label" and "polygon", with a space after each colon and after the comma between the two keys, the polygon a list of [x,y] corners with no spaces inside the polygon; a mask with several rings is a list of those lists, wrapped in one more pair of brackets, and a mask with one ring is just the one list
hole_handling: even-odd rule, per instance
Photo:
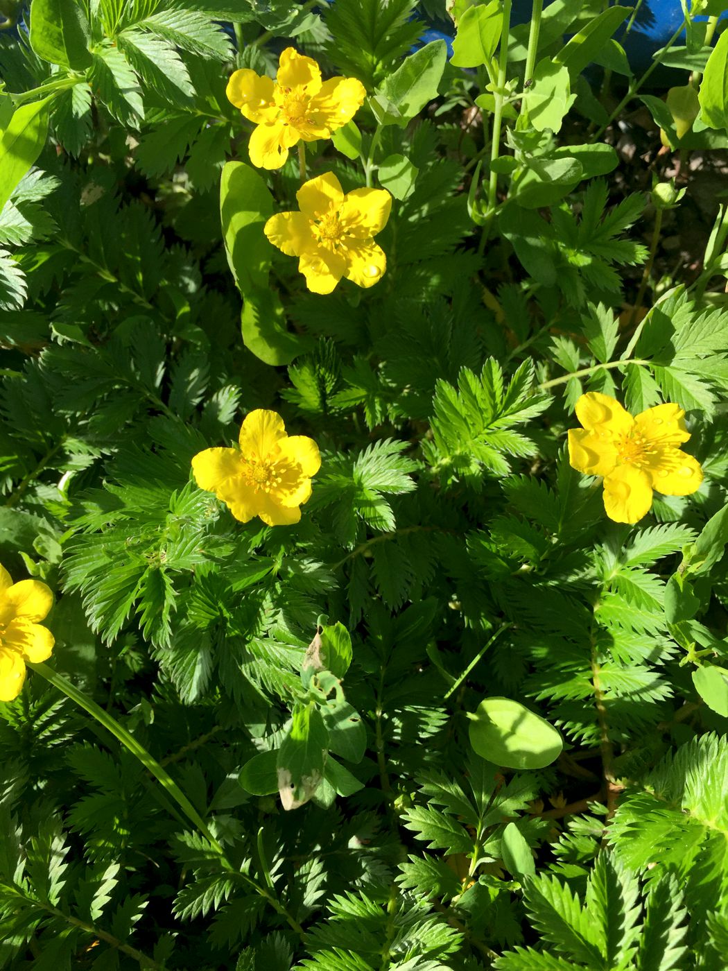
{"label": "green leaf with pale withered brown tip pointing down, below centre", "polygon": [[297,704],[276,762],[283,809],[297,809],[314,795],[328,747],[328,729],[315,703]]}

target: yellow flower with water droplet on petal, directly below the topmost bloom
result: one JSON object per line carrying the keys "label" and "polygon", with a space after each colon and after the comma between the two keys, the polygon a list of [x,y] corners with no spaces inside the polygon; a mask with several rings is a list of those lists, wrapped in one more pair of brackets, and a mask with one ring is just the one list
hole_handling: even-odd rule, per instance
{"label": "yellow flower with water droplet on petal, directly below the topmost bloom", "polygon": [[355,188],[347,195],[327,172],[296,192],[300,213],[279,213],[264,226],[268,239],[288,256],[314,293],[331,293],[342,277],[373,286],[386,256],[373,237],[386,225],[392,197],[383,188]]}

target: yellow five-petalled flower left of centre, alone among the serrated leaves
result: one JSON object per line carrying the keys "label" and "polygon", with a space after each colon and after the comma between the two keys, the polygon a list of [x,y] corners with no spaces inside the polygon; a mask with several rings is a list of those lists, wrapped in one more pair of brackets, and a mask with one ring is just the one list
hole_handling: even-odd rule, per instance
{"label": "yellow five-petalled flower left of centre, alone among the serrated leaves", "polygon": [[250,412],[240,429],[240,449],[206,449],[192,459],[200,488],[215,492],[235,519],[259,516],[269,526],[301,519],[311,498],[311,477],[321,465],[318,447],[305,435],[286,435],[280,415]]}

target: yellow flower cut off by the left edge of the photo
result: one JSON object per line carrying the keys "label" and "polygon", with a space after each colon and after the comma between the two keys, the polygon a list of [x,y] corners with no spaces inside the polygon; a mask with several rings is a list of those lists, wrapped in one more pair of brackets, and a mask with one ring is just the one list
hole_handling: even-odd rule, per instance
{"label": "yellow flower cut off by the left edge of the photo", "polygon": [[45,661],[53,635],[41,626],[53,606],[53,594],[39,580],[14,584],[0,566],[0,701],[17,698],[25,681],[25,661]]}

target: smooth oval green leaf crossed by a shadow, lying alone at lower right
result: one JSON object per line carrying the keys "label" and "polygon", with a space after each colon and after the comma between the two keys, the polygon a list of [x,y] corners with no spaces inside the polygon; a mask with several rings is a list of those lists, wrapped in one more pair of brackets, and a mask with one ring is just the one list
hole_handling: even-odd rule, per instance
{"label": "smooth oval green leaf crossed by a shadow, lying alone at lower right", "polygon": [[510,698],[485,698],[469,718],[475,751],[509,769],[543,769],[564,746],[553,725]]}

